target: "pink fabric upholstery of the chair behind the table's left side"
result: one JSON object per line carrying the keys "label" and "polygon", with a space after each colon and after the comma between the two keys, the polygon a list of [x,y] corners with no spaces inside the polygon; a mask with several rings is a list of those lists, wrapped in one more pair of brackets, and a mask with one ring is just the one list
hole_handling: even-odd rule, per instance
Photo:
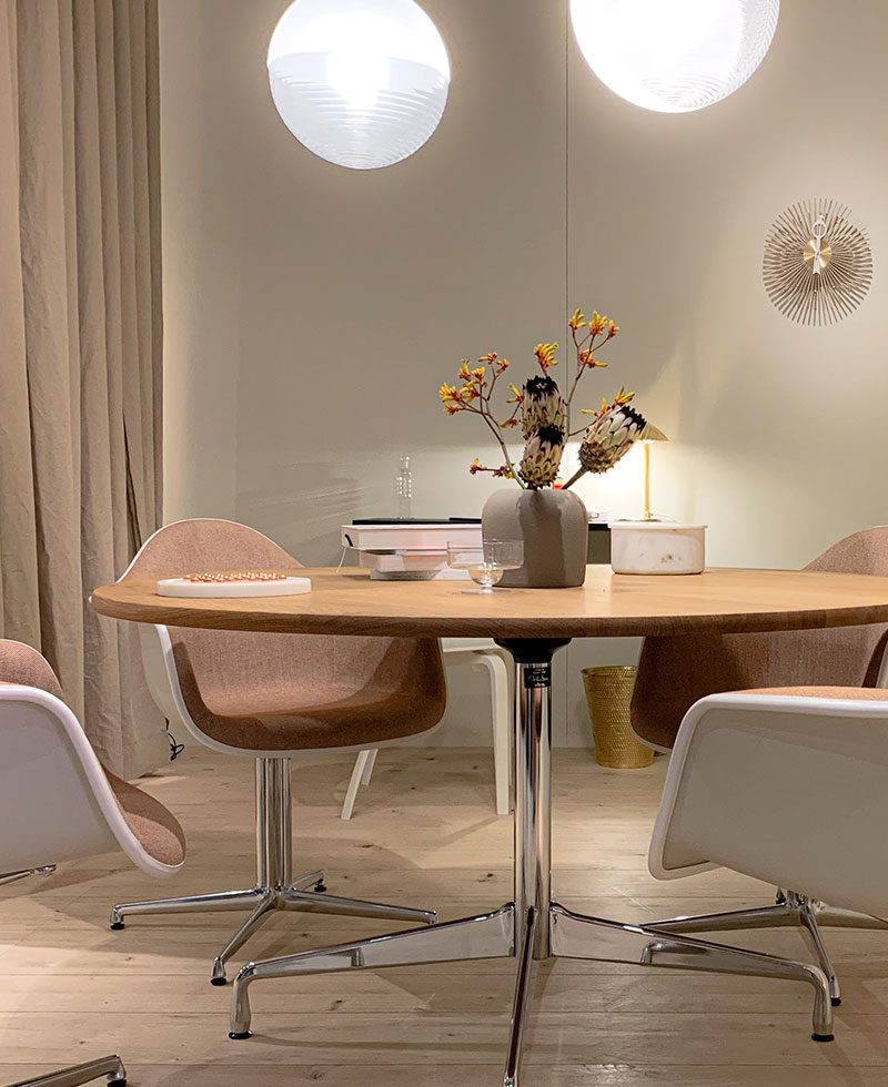
{"label": "pink fabric upholstery of the chair behind the table's left side", "polygon": [[[132,573],[182,575],[300,563],[243,525],[180,521],[143,547]],[[196,727],[244,751],[372,746],[417,735],[444,714],[434,639],[170,628]]]}

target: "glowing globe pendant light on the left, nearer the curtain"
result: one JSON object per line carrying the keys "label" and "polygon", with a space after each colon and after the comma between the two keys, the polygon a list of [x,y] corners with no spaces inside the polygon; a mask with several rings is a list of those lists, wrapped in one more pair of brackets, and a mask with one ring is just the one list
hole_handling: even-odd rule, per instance
{"label": "glowing globe pendant light on the left, nearer the curtain", "polygon": [[269,81],[300,143],[341,166],[374,170],[432,135],[451,70],[414,0],[295,0],[271,38]]}

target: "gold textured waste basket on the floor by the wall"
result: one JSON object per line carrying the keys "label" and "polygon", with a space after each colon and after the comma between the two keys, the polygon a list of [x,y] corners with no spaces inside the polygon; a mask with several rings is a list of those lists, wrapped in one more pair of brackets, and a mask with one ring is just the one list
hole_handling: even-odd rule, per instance
{"label": "gold textured waste basket on the floor by the wall", "polygon": [[653,748],[642,743],[629,724],[629,703],[637,671],[629,664],[583,669],[595,759],[601,766],[637,770],[654,761]]}

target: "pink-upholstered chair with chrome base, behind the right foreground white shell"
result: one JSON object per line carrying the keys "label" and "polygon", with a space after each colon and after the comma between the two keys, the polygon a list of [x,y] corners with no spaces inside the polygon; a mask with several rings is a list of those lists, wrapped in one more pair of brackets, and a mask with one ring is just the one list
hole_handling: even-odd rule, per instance
{"label": "pink-upholstered chair with chrome base, behind the right foreground white shell", "polygon": [[[888,577],[888,527],[840,540],[805,569]],[[650,746],[670,751],[682,720],[707,695],[760,689],[803,693],[810,688],[886,687],[886,626],[648,638],[633,695],[633,729]],[[823,798],[826,813],[829,802],[828,795]],[[663,925],[675,933],[798,926],[829,978],[834,1004],[840,1003],[840,988],[820,926],[888,928],[880,918],[825,907],[809,895],[784,890],[777,892],[773,906],[676,917]]]}

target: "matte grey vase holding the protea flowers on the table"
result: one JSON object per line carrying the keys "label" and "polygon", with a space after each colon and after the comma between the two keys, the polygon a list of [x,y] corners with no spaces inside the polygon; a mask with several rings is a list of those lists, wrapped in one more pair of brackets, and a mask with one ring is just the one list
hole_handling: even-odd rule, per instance
{"label": "matte grey vase holding the protea flowers on the table", "polygon": [[497,490],[484,504],[485,540],[522,540],[524,566],[506,570],[500,585],[571,589],[586,579],[588,514],[572,490]]}

